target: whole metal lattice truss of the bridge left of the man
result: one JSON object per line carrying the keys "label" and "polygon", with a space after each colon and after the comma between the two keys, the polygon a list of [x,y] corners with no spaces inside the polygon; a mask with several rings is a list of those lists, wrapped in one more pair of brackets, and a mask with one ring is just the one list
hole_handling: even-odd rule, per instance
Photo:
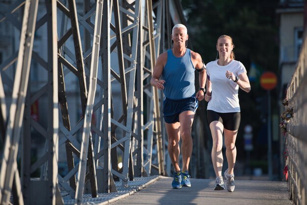
{"label": "whole metal lattice truss of the bridge left of the man", "polygon": [[18,33],[1,35],[19,39],[0,62],[0,204],[11,193],[14,204],[63,204],[61,191],[81,204],[84,193],[117,192],[114,180],[126,186],[165,175],[159,92],[150,78],[169,46],[165,33],[182,15],[178,3],[0,1],[1,30]]}

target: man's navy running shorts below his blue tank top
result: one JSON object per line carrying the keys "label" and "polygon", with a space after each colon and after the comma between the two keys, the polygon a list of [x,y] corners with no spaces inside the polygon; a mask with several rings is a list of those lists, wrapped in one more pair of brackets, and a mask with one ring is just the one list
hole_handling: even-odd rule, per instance
{"label": "man's navy running shorts below his blue tank top", "polygon": [[164,122],[172,124],[179,122],[179,114],[183,111],[196,112],[198,100],[195,95],[181,100],[172,100],[164,97],[163,99],[163,118]]}

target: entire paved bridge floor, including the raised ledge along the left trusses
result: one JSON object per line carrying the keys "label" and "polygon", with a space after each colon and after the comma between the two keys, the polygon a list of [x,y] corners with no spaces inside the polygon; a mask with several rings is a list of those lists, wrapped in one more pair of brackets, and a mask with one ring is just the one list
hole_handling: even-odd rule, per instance
{"label": "entire paved bridge floor, including the raised ledge along the left trusses", "polygon": [[[83,195],[83,205],[293,205],[288,200],[287,182],[236,180],[235,190],[214,191],[214,179],[191,179],[192,187],[172,189],[173,178],[150,176],[128,181],[127,187],[116,182],[118,192],[101,193],[97,198]],[[61,193],[65,205],[75,200]]]}

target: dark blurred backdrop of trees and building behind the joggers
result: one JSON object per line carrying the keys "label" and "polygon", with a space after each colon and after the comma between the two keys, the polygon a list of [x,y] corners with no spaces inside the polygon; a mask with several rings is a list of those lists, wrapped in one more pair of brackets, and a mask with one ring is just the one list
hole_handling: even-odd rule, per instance
{"label": "dark blurred backdrop of trees and building behind the joggers", "polygon": [[[181,0],[181,3],[191,40],[189,43],[201,54],[204,62],[215,60],[217,38],[226,34],[233,39],[235,59],[247,69],[252,90],[250,93],[239,90],[242,120],[236,140],[236,178],[283,179],[284,134],[279,128],[283,110],[281,103],[303,42],[305,1]],[[270,90],[260,83],[265,72],[277,76],[276,86]],[[205,176],[200,177],[207,178],[214,177],[210,164],[212,140],[206,121],[206,102],[200,104],[198,118],[205,126],[203,143],[206,154],[203,156],[208,157],[204,160],[208,163],[203,165]],[[271,130],[268,130],[269,117]],[[195,132],[199,126],[194,127]],[[271,133],[271,144],[268,132]],[[226,167],[225,162],[224,156],[223,167]]]}

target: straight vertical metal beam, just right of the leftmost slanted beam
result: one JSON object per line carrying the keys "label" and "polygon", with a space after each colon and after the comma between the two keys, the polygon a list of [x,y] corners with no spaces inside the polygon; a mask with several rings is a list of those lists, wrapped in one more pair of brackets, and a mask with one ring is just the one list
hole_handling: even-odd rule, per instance
{"label": "straight vertical metal beam, just right of the leftmost slanted beam", "polygon": [[58,186],[58,68],[57,68],[57,10],[56,0],[46,1],[48,35],[48,204],[56,204]]}

